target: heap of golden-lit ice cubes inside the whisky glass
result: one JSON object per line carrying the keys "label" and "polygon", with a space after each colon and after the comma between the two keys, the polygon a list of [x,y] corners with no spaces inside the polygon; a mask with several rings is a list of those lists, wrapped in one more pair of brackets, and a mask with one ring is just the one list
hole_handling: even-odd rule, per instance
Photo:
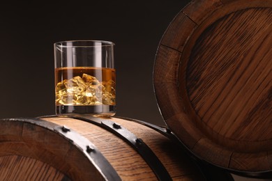
{"label": "heap of golden-lit ice cubes inside the whisky glass", "polygon": [[115,82],[100,82],[96,77],[83,74],[56,84],[56,103],[64,105],[115,104]]}

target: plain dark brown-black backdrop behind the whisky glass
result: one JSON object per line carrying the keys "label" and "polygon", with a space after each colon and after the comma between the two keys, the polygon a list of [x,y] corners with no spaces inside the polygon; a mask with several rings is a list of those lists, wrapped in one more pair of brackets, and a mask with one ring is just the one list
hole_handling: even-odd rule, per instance
{"label": "plain dark brown-black backdrop behind the whisky glass", "polygon": [[54,42],[109,40],[116,44],[116,116],[164,125],[153,63],[188,0],[40,2],[1,6],[0,118],[54,114]]}

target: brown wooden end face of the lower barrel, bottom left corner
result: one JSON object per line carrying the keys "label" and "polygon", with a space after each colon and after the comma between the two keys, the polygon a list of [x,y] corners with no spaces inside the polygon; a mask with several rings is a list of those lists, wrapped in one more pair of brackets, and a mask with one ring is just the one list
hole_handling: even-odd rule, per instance
{"label": "brown wooden end face of the lower barrel, bottom left corner", "polygon": [[82,150],[50,127],[0,120],[0,180],[104,180]]}

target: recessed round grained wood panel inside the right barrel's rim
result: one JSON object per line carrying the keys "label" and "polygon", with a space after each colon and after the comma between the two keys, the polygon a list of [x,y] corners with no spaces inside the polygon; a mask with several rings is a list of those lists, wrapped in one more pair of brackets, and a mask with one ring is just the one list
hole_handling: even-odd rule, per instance
{"label": "recessed round grained wood panel inside the right barrel's rim", "polygon": [[[219,19],[199,37],[188,62],[186,87],[192,107],[205,126],[232,140],[272,139],[271,129],[266,129],[272,126],[269,15],[270,8],[261,8]],[[225,38],[227,33],[233,36]],[[252,134],[256,127],[262,134]],[[266,143],[252,149],[262,151],[271,146]],[[239,148],[244,149],[234,145]]]}

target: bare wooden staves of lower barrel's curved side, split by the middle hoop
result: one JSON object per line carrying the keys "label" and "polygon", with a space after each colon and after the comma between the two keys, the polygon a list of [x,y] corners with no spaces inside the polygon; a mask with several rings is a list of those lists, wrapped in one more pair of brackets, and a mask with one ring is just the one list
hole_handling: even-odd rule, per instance
{"label": "bare wooden staves of lower barrel's curved side, split by the middle hoop", "polygon": [[[122,180],[157,180],[144,159],[125,141],[96,125],[73,118],[45,118],[59,125],[67,125],[89,139],[112,164]],[[110,120],[133,132],[163,163],[174,180],[202,180],[202,173],[184,152],[167,137],[144,125],[120,118]],[[179,151],[183,152],[181,155]]]}

